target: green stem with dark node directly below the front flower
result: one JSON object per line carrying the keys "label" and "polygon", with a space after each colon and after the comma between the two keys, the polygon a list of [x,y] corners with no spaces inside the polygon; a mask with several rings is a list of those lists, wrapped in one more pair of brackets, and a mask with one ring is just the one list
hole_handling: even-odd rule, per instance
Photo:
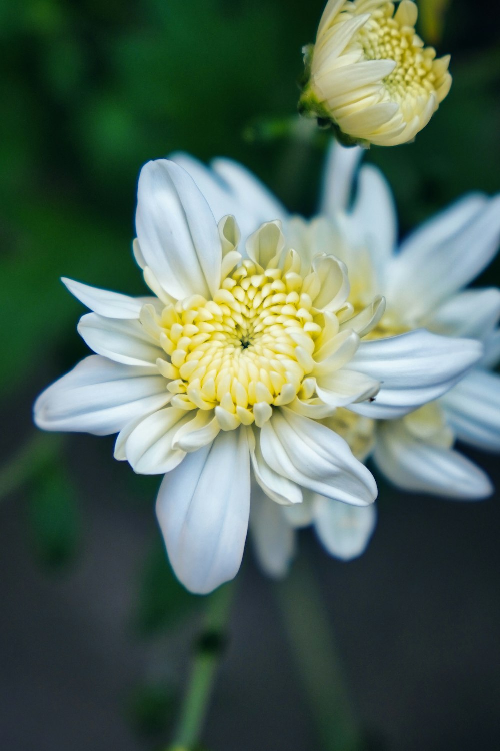
{"label": "green stem with dark node directly below the front flower", "polygon": [[225,584],[208,598],[205,623],[196,641],[187,692],[169,751],[191,751],[199,743],[217,668],[226,645],[233,590],[234,584]]}

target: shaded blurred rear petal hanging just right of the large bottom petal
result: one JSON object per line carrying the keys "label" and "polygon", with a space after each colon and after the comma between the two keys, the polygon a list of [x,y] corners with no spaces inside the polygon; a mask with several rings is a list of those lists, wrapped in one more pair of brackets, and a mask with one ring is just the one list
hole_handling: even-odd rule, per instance
{"label": "shaded blurred rear petal hanging just right of the large bottom petal", "polygon": [[261,569],[274,579],[286,576],[295,555],[295,529],[286,520],[283,508],[260,488],[252,489],[250,531]]}

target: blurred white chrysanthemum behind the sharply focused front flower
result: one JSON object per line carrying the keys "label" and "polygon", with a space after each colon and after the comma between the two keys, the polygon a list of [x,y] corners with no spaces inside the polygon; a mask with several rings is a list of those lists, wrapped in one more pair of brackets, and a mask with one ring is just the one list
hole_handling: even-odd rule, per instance
{"label": "blurred white chrysanthemum behind the sharply focused front flower", "polygon": [[[455,438],[460,438],[482,448],[500,448],[500,379],[487,372],[487,366],[500,360],[500,336],[495,329],[500,291],[461,291],[496,252],[500,199],[483,195],[464,198],[415,232],[398,252],[394,201],[379,170],[371,166],[361,169],[358,197],[348,210],[361,154],[362,149],[332,149],[322,213],[310,222],[289,216],[284,207],[276,206],[267,190],[239,165],[219,159],[208,170],[186,155],[175,155],[175,159],[203,182],[207,191],[211,186],[208,195],[213,197],[216,216],[231,205],[237,217],[255,211],[262,218],[272,205],[272,210],[280,212],[294,247],[313,246],[320,252],[334,247],[349,267],[349,300],[356,309],[378,291],[387,294],[385,315],[368,339],[384,339],[425,326],[437,333],[484,341],[486,354],[478,367],[439,400],[409,415],[403,415],[407,411],[403,407],[398,418],[397,403],[382,403],[377,397],[349,409],[339,407],[323,422],[349,442],[358,459],[374,454],[382,472],[400,487],[457,498],[487,496],[491,492],[487,476],[452,446]],[[252,186],[251,199],[246,198],[244,185],[248,190]],[[412,248],[415,250],[406,255]],[[397,270],[397,276],[392,276],[388,285],[391,270]],[[253,499],[250,522],[262,566],[278,576],[286,572],[292,556],[296,526],[313,523],[327,550],[349,559],[366,547],[376,524],[376,508],[346,505],[307,492],[300,506],[286,508]]]}

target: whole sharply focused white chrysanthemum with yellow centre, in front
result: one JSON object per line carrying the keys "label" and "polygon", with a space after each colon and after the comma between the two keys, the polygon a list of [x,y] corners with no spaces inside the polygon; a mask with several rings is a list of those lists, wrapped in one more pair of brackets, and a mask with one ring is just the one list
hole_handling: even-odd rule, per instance
{"label": "whole sharply focused white chrysanthemum with yellow centre, in front", "polygon": [[118,459],[165,475],[160,526],[173,569],[197,593],[238,572],[252,475],[271,505],[309,493],[370,504],[375,481],[328,418],[373,397],[407,412],[481,356],[476,342],[425,331],[361,342],[384,301],[353,308],[334,248],[296,250],[276,221],[240,241],[233,216],[217,219],[178,164],[143,167],[135,255],[154,297],[65,280],[94,311],[79,333],[97,354],[35,405],[40,427],[118,432]]}

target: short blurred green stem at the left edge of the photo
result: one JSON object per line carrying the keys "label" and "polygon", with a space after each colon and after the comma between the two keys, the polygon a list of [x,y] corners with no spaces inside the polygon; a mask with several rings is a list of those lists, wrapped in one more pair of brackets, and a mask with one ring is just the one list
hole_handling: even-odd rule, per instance
{"label": "short blurred green stem at the left edge of the photo", "polygon": [[0,467],[0,501],[22,487],[52,460],[61,446],[61,436],[36,432]]}

